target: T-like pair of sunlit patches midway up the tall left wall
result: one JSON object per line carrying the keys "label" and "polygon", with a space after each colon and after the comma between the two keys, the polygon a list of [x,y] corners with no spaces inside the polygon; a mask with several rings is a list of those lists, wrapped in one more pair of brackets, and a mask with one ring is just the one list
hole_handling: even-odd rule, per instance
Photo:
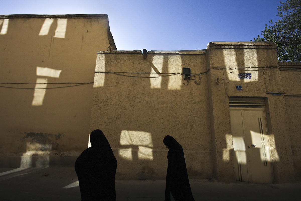
{"label": "T-like pair of sunlit patches midway up the tall left wall", "polygon": [[[46,77],[55,77],[58,78],[62,70],[56,70],[51,68],[37,67],[36,74],[37,76],[46,76]],[[33,94],[32,106],[41,106],[46,94],[47,79],[37,78],[35,91]]]}

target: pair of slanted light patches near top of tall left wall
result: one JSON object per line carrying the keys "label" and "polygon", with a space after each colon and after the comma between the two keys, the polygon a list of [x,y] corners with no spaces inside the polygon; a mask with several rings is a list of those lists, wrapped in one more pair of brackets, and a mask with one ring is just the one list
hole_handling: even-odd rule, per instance
{"label": "pair of slanted light patches near top of tall left wall", "polygon": [[[44,20],[44,23],[39,32],[39,36],[46,36],[49,33],[49,29],[53,23],[54,19],[47,18]],[[67,29],[67,19],[57,19],[57,28],[54,32],[55,38],[65,38]]]}

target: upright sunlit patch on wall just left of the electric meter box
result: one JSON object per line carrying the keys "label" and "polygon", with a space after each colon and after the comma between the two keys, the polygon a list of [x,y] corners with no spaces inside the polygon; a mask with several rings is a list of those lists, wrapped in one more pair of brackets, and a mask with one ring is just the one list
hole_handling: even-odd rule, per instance
{"label": "upright sunlit patch on wall just left of the electric meter box", "polygon": [[[168,56],[168,73],[182,72],[182,59],[180,55]],[[168,89],[180,90],[182,85],[181,75],[169,76]]]}

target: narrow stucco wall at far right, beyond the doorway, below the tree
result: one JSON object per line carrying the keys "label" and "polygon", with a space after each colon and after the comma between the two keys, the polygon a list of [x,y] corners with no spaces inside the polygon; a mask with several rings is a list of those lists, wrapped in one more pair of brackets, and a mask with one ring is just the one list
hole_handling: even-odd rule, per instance
{"label": "narrow stucco wall at far right, beyond the doorway, below the tree", "polygon": [[283,83],[285,108],[293,152],[293,165],[296,179],[301,179],[301,63],[280,62],[280,75]]}

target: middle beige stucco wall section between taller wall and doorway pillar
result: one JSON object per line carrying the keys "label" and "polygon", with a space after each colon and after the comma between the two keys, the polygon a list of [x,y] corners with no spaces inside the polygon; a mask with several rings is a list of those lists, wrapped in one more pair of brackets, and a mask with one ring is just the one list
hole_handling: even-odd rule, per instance
{"label": "middle beige stucco wall section between taller wall and doorway pillar", "polygon": [[140,51],[98,53],[96,71],[106,73],[95,73],[90,131],[104,131],[117,158],[116,178],[164,179],[166,135],[182,145],[190,178],[213,175],[206,76],[200,85],[184,85],[180,74],[150,78],[183,67],[206,71],[199,53],[149,52],[146,59]]}

